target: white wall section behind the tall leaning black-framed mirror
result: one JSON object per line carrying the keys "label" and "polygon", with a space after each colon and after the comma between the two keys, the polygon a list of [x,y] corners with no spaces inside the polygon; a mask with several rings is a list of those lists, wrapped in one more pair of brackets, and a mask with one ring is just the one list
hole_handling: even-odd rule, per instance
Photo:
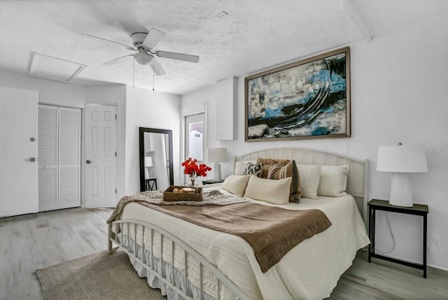
{"label": "white wall section behind the tall leaning black-framed mirror", "polygon": [[179,184],[181,97],[127,86],[126,99],[126,194],[140,192],[139,127],[173,131],[174,184]]}

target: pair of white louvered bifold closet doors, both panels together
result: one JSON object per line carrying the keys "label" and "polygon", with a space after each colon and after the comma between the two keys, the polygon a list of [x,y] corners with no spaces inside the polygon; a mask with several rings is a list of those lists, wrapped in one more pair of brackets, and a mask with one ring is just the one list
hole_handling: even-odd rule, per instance
{"label": "pair of white louvered bifold closet doors, both panels together", "polygon": [[38,106],[39,211],[80,206],[80,109]]}

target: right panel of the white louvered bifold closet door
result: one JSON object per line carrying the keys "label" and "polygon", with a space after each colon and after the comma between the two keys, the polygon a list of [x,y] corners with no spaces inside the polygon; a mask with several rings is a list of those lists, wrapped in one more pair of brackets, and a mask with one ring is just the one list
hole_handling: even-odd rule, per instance
{"label": "right panel of the white louvered bifold closet door", "polygon": [[80,109],[59,108],[59,207],[80,206]]}

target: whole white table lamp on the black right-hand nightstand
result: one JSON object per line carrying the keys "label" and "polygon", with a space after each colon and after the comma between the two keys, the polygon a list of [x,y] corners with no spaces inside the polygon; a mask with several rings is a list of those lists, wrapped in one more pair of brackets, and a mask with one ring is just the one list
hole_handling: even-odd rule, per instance
{"label": "whole white table lamp on the black right-hand nightstand", "polygon": [[389,203],[394,206],[412,207],[414,201],[409,173],[428,172],[426,155],[414,146],[401,143],[396,146],[380,146],[377,171],[392,172]]}

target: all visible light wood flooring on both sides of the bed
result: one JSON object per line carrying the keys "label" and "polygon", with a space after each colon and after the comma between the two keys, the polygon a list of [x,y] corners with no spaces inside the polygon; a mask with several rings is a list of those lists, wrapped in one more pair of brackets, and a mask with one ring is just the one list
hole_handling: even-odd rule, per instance
{"label": "all visible light wood flooring on both sides of the bed", "polygon": [[[0,219],[0,299],[41,300],[36,269],[106,250],[111,212],[71,208]],[[425,279],[422,271],[377,259],[369,264],[366,256],[358,252],[328,299],[448,299],[448,272],[429,268]]]}

